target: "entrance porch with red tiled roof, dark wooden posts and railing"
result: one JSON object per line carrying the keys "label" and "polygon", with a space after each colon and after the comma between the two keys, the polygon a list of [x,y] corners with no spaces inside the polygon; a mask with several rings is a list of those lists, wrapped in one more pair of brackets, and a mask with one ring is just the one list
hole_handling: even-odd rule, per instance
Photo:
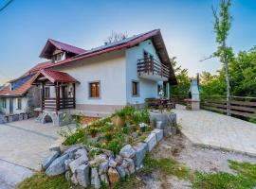
{"label": "entrance porch with red tiled roof, dark wooden posts and railing", "polygon": [[[72,97],[63,96],[60,97],[60,87],[64,86],[64,84],[73,84],[73,94]],[[72,109],[76,108],[76,83],[80,83],[74,77],[70,75],[53,70],[41,70],[35,77],[31,84],[33,85],[41,85],[41,108],[43,110],[52,110],[56,111],[56,113],[63,109]],[[55,97],[45,96],[45,87],[46,86],[54,86],[55,87]]]}

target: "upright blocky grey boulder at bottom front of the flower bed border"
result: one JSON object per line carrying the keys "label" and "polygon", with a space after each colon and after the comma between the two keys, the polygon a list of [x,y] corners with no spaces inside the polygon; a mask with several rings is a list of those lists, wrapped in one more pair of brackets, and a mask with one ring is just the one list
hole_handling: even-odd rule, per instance
{"label": "upright blocky grey boulder at bottom front of the flower bed border", "polygon": [[76,169],[78,183],[84,188],[90,185],[89,171],[88,164],[82,164]]}

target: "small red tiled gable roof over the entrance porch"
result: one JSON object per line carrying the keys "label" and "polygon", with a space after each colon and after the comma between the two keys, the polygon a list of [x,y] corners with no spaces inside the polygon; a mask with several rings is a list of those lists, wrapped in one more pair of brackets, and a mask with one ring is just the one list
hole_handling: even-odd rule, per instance
{"label": "small red tiled gable roof over the entrance porch", "polygon": [[52,83],[55,83],[55,82],[79,83],[79,81],[77,79],[75,79],[74,77],[71,77],[70,75],[68,75],[64,72],[58,72],[58,71],[46,70],[46,69],[43,69],[40,72],[38,72],[36,77],[33,78],[32,83],[40,75],[43,75],[44,77],[49,79],[49,81]]}

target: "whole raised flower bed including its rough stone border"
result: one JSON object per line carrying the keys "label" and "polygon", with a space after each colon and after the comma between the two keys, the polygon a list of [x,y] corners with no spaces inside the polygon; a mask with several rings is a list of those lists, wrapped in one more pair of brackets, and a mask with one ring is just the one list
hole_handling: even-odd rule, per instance
{"label": "whole raised flower bed including its rough stone border", "polygon": [[155,112],[130,106],[85,127],[75,117],[76,129],[61,131],[64,146],[55,148],[42,167],[48,176],[64,173],[66,180],[83,187],[113,186],[142,168],[146,154],[171,130],[165,129],[173,123],[168,114],[160,120]]}

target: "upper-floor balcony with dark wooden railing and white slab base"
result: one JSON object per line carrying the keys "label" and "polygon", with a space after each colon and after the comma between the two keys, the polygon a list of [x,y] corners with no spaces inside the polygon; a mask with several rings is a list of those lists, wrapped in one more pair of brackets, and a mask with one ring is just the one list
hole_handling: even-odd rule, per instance
{"label": "upper-floor balcony with dark wooden railing and white slab base", "polygon": [[137,75],[151,80],[167,81],[170,77],[170,68],[155,59],[137,60]]}

